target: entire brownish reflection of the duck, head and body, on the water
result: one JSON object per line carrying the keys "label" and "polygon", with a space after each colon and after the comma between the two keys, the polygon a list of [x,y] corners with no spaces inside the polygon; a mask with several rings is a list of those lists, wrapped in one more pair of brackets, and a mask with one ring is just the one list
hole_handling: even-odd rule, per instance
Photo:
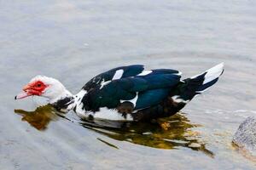
{"label": "entire brownish reflection of the duck, head and body, on the water", "polygon": [[[56,121],[60,116],[69,120],[55,111],[50,105],[40,106],[36,111],[15,110],[15,113],[22,116],[22,121],[28,122],[38,130],[45,130],[50,121]],[[199,140],[200,134],[193,131],[192,127],[198,127],[199,125],[191,123],[183,113],[177,113],[174,116],[151,122],[81,120],[78,123],[96,133],[101,133],[119,141],[127,141],[159,149],[186,147],[191,150],[200,150],[208,156],[213,156],[212,151],[207,150],[205,144]],[[99,140],[118,149],[118,147],[109,144],[107,141]]]}

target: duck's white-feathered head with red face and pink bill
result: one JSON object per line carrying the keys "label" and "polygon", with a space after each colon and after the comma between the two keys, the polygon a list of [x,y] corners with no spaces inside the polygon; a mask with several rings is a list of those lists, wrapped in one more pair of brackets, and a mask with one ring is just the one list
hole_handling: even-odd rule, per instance
{"label": "duck's white-feathered head with red face and pink bill", "polygon": [[36,76],[22,88],[22,92],[16,95],[15,99],[24,99],[33,95],[48,98],[49,103],[54,103],[58,99],[72,94],[55,78]]}

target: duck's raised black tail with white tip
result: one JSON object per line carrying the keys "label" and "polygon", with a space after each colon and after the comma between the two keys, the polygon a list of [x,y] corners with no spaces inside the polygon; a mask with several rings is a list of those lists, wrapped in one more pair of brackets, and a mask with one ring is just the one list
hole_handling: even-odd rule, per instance
{"label": "duck's raised black tail with white tip", "polygon": [[184,79],[177,88],[177,92],[173,94],[173,101],[184,104],[188,103],[195,95],[205,92],[215,84],[223,72],[224,63],[221,63],[199,75]]}

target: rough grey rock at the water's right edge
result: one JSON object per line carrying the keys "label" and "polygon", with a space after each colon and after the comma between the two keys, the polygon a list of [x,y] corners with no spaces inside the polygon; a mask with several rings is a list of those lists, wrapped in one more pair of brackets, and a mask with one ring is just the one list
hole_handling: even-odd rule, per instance
{"label": "rough grey rock at the water's right edge", "polygon": [[238,127],[233,142],[243,149],[256,152],[256,117],[249,116]]}

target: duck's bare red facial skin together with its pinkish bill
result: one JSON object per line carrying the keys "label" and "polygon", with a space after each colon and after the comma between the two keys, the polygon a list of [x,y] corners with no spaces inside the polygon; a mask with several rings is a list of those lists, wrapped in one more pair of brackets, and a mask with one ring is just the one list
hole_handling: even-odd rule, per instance
{"label": "duck's bare red facial skin together with its pinkish bill", "polygon": [[23,99],[31,95],[38,95],[40,96],[43,94],[44,89],[47,88],[49,85],[44,84],[42,81],[35,81],[28,83],[23,89],[23,92],[15,96],[15,99]]}

